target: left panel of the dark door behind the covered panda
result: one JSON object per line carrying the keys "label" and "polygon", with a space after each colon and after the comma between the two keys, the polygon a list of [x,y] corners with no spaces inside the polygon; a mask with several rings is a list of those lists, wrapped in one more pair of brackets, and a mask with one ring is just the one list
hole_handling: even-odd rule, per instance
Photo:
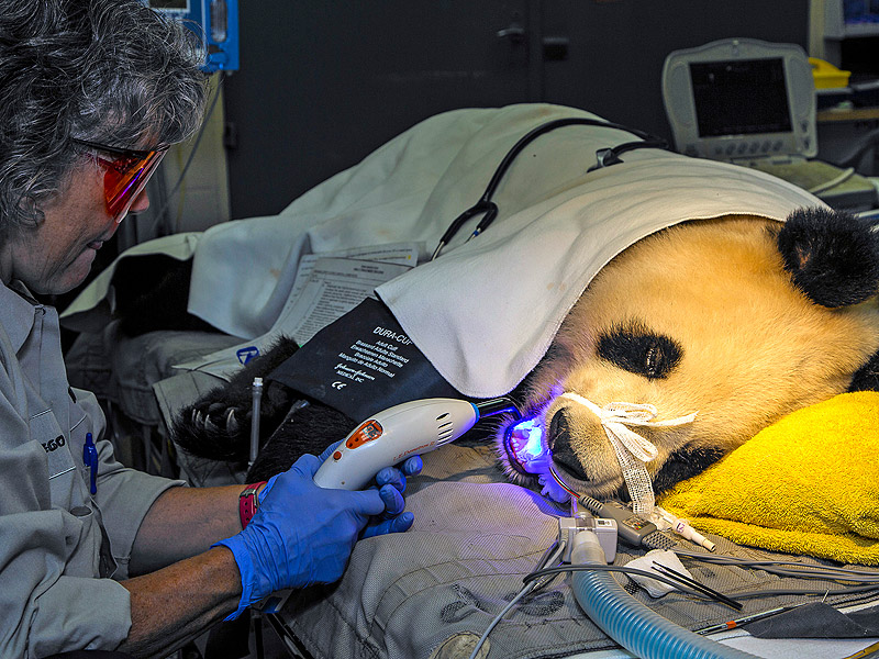
{"label": "left panel of the dark door behind the covered panda", "polygon": [[224,83],[232,217],[279,212],[438,112],[528,100],[525,5],[241,2],[241,70]]}

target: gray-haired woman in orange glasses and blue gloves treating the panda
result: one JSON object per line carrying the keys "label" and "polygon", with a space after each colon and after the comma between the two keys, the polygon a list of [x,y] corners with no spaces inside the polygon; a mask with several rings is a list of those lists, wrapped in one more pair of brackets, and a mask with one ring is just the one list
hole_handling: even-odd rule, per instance
{"label": "gray-haired woman in orange glasses and blue gloves treating the panda", "polygon": [[3,657],[165,656],[275,590],[335,581],[358,537],[412,523],[397,469],[344,492],[314,485],[314,456],[244,490],[123,468],[93,395],[67,383],[57,313],[32,294],[80,283],[148,206],[147,179],[201,121],[201,62],[138,0],[0,0]]}

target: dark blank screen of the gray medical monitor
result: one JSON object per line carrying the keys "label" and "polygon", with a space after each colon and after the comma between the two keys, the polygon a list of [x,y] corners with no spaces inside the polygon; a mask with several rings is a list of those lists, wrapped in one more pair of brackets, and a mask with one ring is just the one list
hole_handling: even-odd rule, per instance
{"label": "dark blank screen of the gray medical monitor", "polygon": [[700,137],[792,131],[781,57],[690,63]]}

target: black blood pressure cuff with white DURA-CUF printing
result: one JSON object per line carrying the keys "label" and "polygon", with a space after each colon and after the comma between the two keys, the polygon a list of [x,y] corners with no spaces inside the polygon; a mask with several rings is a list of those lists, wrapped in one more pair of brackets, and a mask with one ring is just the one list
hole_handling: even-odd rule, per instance
{"label": "black blood pressure cuff with white DURA-CUF printing", "polygon": [[423,398],[465,398],[372,298],[321,330],[267,379],[354,420]]}

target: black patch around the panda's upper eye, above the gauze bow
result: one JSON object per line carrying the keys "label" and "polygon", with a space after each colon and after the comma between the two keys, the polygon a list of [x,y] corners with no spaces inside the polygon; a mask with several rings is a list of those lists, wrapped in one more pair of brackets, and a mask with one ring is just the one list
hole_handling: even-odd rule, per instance
{"label": "black patch around the panda's upper eye, above the gauze bow", "polygon": [[598,356],[649,380],[665,378],[678,365],[683,350],[678,342],[632,322],[616,325],[598,342]]}

